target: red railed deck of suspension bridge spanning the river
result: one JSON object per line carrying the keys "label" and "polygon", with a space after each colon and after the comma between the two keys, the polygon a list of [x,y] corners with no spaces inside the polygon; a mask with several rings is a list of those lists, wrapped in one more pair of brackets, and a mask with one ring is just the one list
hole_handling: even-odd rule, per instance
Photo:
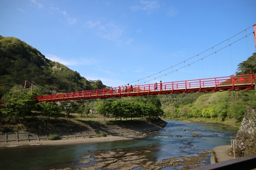
{"label": "red railed deck of suspension bridge spanning the river", "polygon": [[37,96],[35,97],[35,99],[38,102],[56,102],[96,98],[119,98],[127,96],[246,90],[255,88],[255,80],[256,74],[246,74],[238,76],[203,78],[196,80],[184,80],[156,84],[143,84],[137,86],[69,92],[46,96]]}

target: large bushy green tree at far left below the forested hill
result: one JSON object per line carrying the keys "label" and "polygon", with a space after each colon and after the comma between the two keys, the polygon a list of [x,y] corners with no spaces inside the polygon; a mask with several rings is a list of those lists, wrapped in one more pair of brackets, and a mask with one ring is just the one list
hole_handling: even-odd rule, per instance
{"label": "large bushy green tree at far left below the forested hill", "polygon": [[31,94],[26,94],[23,92],[8,92],[3,97],[5,100],[2,104],[2,109],[0,111],[5,114],[5,118],[21,116],[23,112],[31,112],[32,109],[36,107],[36,102]]}

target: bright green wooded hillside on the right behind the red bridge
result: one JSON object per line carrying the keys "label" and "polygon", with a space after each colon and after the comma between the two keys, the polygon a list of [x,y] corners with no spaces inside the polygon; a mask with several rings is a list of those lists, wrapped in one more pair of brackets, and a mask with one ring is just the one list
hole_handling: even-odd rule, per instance
{"label": "bright green wooded hillside on the right behind the red bridge", "polygon": [[[256,73],[256,53],[238,64],[237,75]],[[244,98],[242,96],[248,96]],[[251,106],[256,108],[255,90],[160,95],[164,117],[238,125]]]}

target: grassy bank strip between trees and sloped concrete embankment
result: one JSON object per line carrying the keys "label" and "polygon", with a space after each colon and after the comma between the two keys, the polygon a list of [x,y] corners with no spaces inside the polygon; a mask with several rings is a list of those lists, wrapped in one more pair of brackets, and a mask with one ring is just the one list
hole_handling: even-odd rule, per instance
{"label": "grassy bank strip between trees and sloped concrete embankment", "polygon": [[94,114],[77,114],[72,113],[65,118],[65,113],[61,113],[59,117],[48,117],[42,113],[33,113],[30,116],[23,116],[16,119],[16,121],[4,121],[4,117],[0,117],[0,133],[5,131],[20,131],[22,129],[35,129],[37,131],[56,131],[58,127],[65,127],[67,129],[84,129],[90,128],[90,124],[94,125],[113,125],[125,123],[140,123],[146,121],[160,127],[164,127],[166,122],[158,118],[136,118],[133,120],[116,120],[115,118],[106,118],[102,115]]}

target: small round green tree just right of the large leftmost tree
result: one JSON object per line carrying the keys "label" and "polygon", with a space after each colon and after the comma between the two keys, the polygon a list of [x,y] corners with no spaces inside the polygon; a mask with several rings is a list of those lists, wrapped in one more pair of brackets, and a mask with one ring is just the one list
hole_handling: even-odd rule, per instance
{"label": "small round green tree just right of the large leftmost tree", "polygon": [[41,102],[40,106],[42,107],[42,113],[46,113],[49,116],[48,120],[50,120],[50,116],[58,117],[60,114],[60,106],[55,106],[53,102]]}

